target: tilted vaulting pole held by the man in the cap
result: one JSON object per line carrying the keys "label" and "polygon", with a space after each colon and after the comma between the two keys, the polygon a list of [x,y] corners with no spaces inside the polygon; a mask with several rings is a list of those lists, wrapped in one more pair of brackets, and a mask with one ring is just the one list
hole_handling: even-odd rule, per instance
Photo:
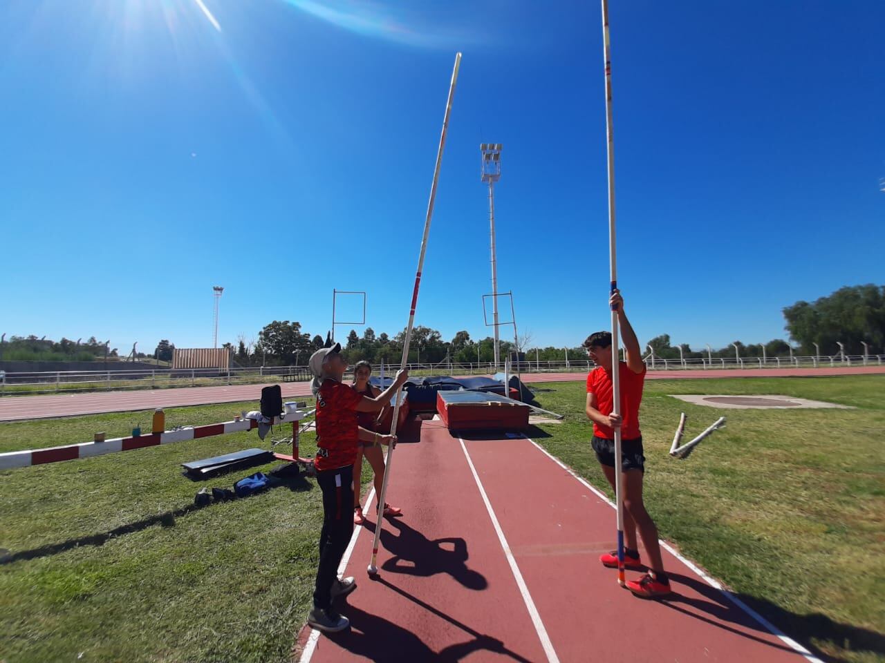
{"label": "tilted vaulting pole held by the man in the cap", "polygon": [[[405,341],[403,344],[403,361],[400,363],[400,370],[405,369],[406,363],[409,361],[409,345],[412,342],[412,325],[415,323],[415,308],[418,306],[418,291],[421,285],[421,271],[424,269],[424,255],[427,252],[427,236],[430,234],[430,219],[434,214],[434,201],[436,199],[436,183],[440,176],[440,166],[443,164],[443,149],[445,148],[445,135],[449,128],[449,115],[451,113],[451,102],[455,96],[455,84],[458,82],[458,68],[461,66],[461,54],[455,54],[455,67],[451,72],[451,82],[449,84],[449,98],[446,100],[445,115],[443,116],[443,132],[440,134],[440,146],[436,150],[436,165],[434,168],[434,182],[430,187],[430,200],[427,202],[427,217],[424,220],[424,236],[421,238],[421,252],[418,257],[418,271],[415,272],[415,287],[412,290],[412,305],[409,309],[409,324],[405,328]],[[396,423],[399,420],[399,406],[403,387],[396,390],[396,402],[393,408],[393,422],[390,425],[390,434],[396,435]],[[387,469],[384,471],[384,481],[381,484],[381,497],[378,502],[378,524],[375,526],[375,537],[372,544],[372,561],[366,569],[370,575],[378,573],[375,562],[378,561],[378,545],[381,541],[381,524],[384,522],[384,499],[387,496],[387,487],[390,483],[391,468],[393,467],[393,452],[395,447],[390,446],[387,457]]]}

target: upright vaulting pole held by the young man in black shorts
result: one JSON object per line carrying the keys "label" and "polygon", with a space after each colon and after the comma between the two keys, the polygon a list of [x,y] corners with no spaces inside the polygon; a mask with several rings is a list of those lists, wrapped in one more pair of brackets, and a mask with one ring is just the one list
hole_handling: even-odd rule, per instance
{"label": "upright vaulting pole held by the young man in black shorts", "polygon": [[[614,136],[612,134],[612,45],[608,28],[608,0],[603,3],[603,52],[605,57],[605,134],[608,153],[609,182],[609,264],[611,292],[618,287],[618,261],[614,225]],[[620,356],[618,353],[618,311],[612,308],[612,413],[620,414]],[[618,583],[626,586],[624,577],[624,490],[621,468],[620,428],[614,430],[615,501],[618,504]]]}

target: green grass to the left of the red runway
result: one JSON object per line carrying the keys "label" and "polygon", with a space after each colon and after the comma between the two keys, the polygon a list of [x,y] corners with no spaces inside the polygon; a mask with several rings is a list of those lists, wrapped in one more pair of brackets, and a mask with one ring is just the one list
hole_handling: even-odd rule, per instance
{"label": "green grass to the left of the red runway", "polygon": [[[254,407],[176,408],[167,425]],[[0,451],[149,430],[150,415],[4,423]],[[17,558],[0,564],[0,660],[289,660],[311,601],[319,490],[293,482],[196,509],[200,487],[231,487],[247,470],[195,484],[179,467],[267,445],[251,431],[0,472],[0,546]]]}

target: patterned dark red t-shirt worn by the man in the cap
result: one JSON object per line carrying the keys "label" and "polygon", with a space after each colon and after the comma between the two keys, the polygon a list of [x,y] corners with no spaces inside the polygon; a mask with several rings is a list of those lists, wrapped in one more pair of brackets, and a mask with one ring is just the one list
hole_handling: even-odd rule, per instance
{"label": "patterned dark red t-shirt worn by the man in the cap", "polygon": [[357,461],[360,393],[328,377],[317,392],[317,458],[319,470],[338,469]]}

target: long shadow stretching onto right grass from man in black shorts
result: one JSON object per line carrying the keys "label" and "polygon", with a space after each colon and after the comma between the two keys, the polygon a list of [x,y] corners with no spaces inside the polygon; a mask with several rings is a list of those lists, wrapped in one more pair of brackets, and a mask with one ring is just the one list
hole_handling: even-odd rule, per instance
{"label": "long shadow stretching onto right grass from man in black shorts", "polygon": [[[704,599],[675,595],[663,599],[661,602],[664,605],[673,608],[674,610],[678,610],[681,613],[688,614],[695,619],[712,623],[720,629],[727,629],[753,640],[762,641],[763,638],[751,636],[739,629],[732,629],[721,622],[729,622],[736,626],[741,626],[744,629],[753,629],[763,633],[769,632],[765,626],[756,621],[749,613],[743,610],[742,607],[737,606],[715,587],[711,587],[709,584],[704,583],[704,581],[688,575],[675,573],[669,573],[667,575],[670,576],[672,582],[680,583],[691,588],[693,591],[696,591],[704,597]],[[831,661],[843,660],[842,658],[829,656],[826,653],[821,652],[820,648],[812,644],[812,638],[819,641],[830,641],[835,644],[835,646],[841,647],[847,652],[870,652],[878,656],[885,654],[885,635],[873,631],[872,629],[864,629],[850,624],[843,624],[820,613],[792,613],[781,606],[773,604],[765,598],[753,597],[736,592],[732,592],[731,595],[746,606],[749,606],[750,609],[755,610],[767,621],[770,621],[773,626],[781,629],[784,633],[803,644],[805,648],[810,650],[812,654],[819,659]],[[695,608],[696,612],[691,612],[678,606],[677,604],[680,603]],[[707,613],[712,619],[707,619],[698,615],[697,612]],[[764,641],[766,644],[770,644],[773,647],[792,651],[789,647],[781,645],[780,643],[774,644],[770,640]]]}

